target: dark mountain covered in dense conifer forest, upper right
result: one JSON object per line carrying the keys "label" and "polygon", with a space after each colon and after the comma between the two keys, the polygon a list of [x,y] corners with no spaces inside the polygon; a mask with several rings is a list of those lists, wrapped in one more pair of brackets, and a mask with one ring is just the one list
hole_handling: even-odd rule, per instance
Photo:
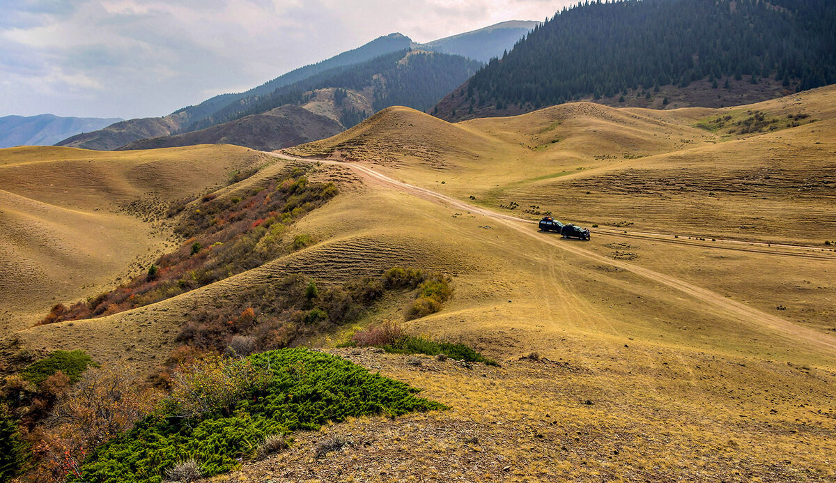
{"label": "dark mountain covered in dense conifer forest, upper right", "polygon": [[625,0],[564,8],[433,109],[521,114],[571,100],[722,107],[836,83],[825,0]]}

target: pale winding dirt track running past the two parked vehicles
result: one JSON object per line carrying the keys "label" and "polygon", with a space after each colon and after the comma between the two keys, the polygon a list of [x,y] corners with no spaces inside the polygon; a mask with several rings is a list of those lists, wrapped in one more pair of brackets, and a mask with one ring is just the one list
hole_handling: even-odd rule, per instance
{"label": "pale winding dirt track running past the two parked vehicles", "polygon": [[[685,282],[679,280],[678,278],[671,277],[670,275],[665,275],[664,273],[655,272],[645,267],[639,267],[634,264],[621,262],[619,260],[612,260],[607,257],[602,257],[597,253],[590,252],[582,247],[579,247],[576,243],[568,243],[564,242],[561,239],[555,238],[553,236],[545,235],[539,231],[532,230],[531,224],[533,221],[530,220],[523,220],[522,218],[517,218],[516,216],[505,215],[502,213],[497,213],[495,211],[487,210],[485,208],[471,205],[470,203],[466,203],[465,201],[458,200],[451,196],[446,196],[441,193],[437,193],[436,191],[427,190],[426,188],[422,188],[421,186],[413,186],[408,183],[401,182],[399,180],[394,180],[387,175],[383,175],[368,166],[360,165],[354,162],[343,162],[343,161],[336,161],[336,160],[316,160],[316,159],[304,159],[304,158],[296,158],[288,155],[279,155],[277,153],[267,153],[268,155],[273,155],[278,158],[284,160],[292,160],[292,161],[300,161],[300,162],[319,162],[327,165],[340,165],[340,166],[347,166],[350,169],[358,172],[360,175],[364,175],[365,178],[374,181],[377,184],[390,186],[400,191],[405,191],[410,193],[411,195],[418,196],[427,201],[433,202],[441,202],[448,206],[454,206],[456,208],[460,208],[461,210],[471,211],[472,213],[478,213],[483,216],[490,217],[498,222],[502,223],[513,230],[520,232],[525,236],[531,236],[536,238],[539,242],[546,243],[553,247],[558,247],[561,250],[566,252],[571,252],[579,257],[585,257],[589,260],[594,262],[604,263],[613,267],[619,267],[624,269],[625,271],[635,273],[642,277],[646,277],[650,280],[655,282],[659,282],[665,286],[674,288],[680,292],[685,293],[688,296],[694,297],[700,300],[703,303],[713,306],[721,310],[723,313],[727,315],[736,317],[742,320],[745,323],[752,323],[756,326],[760,327],[767,327],[771,328],[776,333],[783,334],[788,338],[792,338],[796,341],[805,341],[810,345],[816,346],[818,348],[823,348],[828,351],[834,351],[836,349],[836,340],[832,337],[829,337],[827,334],[818,333],[812,329],[805,328],[799,326],[796,323],[792,323],[788,320],[783,318],[776,317],[772,314],[765,313],[762,310],[758,310],[757,308],[752,308],[745,303],[737,302],[736,300],[732,300],[727,297],[723,297],[716,292],[712,292],[703,287],[698,287],[690,282]],[[618,232],[612,233],[613,235],[619,235]],[[642,236],[652,236],[653,234],[650,233],[642,233]],[[668,236],[668,235],[660,235],[660,236]],[[672,238],[672,236],[670,236]],[[712,242],[713,243],[713,242]],[[766,244],[762,244],[766,245]],[[716,247],[716,245],[709,245],[710,247]],[[806,247],[793,247],[791,245],[781,246],[781,248],[806,248]],[[788,255],[787,252],[772,252],[769,251],[768,253],[773,253],[777,255]],[[798,254],[798,255],[807,255],[807,254]],[[828,257],[832,259],[832,257]]]}

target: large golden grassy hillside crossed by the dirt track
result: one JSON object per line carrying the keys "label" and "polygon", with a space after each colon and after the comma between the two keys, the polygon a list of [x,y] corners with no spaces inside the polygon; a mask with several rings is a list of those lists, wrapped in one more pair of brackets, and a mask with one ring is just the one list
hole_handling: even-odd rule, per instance
{"label": "large golden grassy hillside crossed by the dirt track", "polygon": [[[271,288],[286,277],[324,290],[415,267],[450,277],[439,312],[407,323],[415,293],[385,292],[350,323],[295,340],[450,409],[294,434],[290,449],[218,478],[832,480],[834,97],[830,86],[725,109],[580,102],[457,124],[383,109],[184,211],[242,201],[297,166],[339,189],[283,234],[310,243],[158,303],[18,330],[15,348],[83,349],[147,374],[206,308],[293,292]],[[13,172],[43,155],[8,156]],[[538,232],[545,212],[592,240]],[[191,241],[176,242],[187,254]],[[77,286],[54,302],[99,292]],[[501,367],[336,347],[384,320]],[[350,444],[318,451],[334,439]]]}

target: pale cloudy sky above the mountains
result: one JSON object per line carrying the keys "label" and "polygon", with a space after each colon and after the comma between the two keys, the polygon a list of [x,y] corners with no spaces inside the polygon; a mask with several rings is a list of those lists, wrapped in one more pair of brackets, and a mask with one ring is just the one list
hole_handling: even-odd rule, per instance
{"label": "pale cloudy sky above the mountains", "polygon": [[568,0],[0,0],[0,116],[160,116],[400,32],[417,42]]}

